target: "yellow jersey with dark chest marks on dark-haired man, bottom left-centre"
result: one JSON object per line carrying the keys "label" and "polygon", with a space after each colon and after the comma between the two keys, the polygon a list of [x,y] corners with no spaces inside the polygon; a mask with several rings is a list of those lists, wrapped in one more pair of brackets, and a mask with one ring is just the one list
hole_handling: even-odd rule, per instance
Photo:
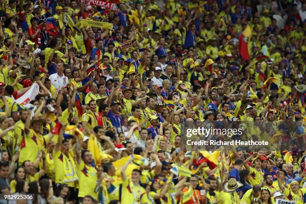
{"label": "yellow jersey with dark chest marks on dark-haired man, bottom left-centre", "polygon": [[97,193],[94,192],[97,180],[96,169],[92,166],[85,165],[83,161],[76,167],[79,186],[86,186],[78,189],[77,196],[84,197],[85,195],[91,195],[97,199]]}

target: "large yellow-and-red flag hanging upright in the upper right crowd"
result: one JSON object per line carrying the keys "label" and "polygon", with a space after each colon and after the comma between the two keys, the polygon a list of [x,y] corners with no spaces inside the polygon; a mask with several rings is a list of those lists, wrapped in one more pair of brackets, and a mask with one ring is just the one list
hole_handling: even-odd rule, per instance
{"label": "large yellow-and-red flag hanging upright in the upper right crowd", "polygon": [[249,25],[246,25],[245,29],[243,30],[242,34],[239,38],[239,53],[242,60],[250,59],[250,51],[248,50],[248,43],[252,36],[252,30]]}

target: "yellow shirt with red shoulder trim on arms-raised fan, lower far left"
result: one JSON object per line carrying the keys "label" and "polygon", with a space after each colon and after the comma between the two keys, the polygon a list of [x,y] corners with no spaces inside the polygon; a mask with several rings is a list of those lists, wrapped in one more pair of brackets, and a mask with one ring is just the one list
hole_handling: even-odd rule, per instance
{"label": "yellow shirt with red shoulder trim on arms-raised fan, lower far left", "polygon": [[19,165],[25,160],[34,162],[38,152],[46,148],[49,140],[47,135],[37,134],[33,129],[29,129],[28,134],[24,133],[20,142]]}

